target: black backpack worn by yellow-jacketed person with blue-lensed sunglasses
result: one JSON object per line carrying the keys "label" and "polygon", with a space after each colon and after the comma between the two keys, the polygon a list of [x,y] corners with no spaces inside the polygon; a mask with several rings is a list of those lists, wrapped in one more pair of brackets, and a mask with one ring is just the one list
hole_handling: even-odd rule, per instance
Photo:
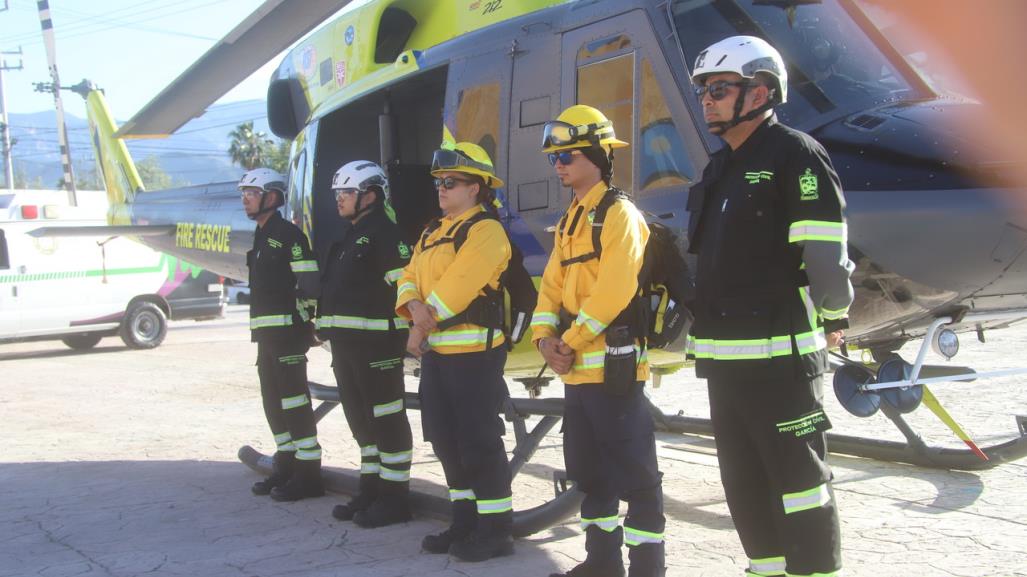
{"label": "black backpack worn by yellow-jacketed person with blue-lensed sunglasses", "polygon": [[[603,254],[603,223],[606,213],[617,200],[632,202],[625,192],[610,187],[596,205],[592,221],[592,252],[562,261],[561,265],[591,261]],[[610,324],[627,324],[635,337],[643,339],[645,346],[659,349],[687,334],[693,317],[686,303],[695,299],[695,284],[678,248],[677,235],[662,224],[647,224],[649,240],[639,271],[639,294]],[[563,228],[562,221],[560,229]]]}

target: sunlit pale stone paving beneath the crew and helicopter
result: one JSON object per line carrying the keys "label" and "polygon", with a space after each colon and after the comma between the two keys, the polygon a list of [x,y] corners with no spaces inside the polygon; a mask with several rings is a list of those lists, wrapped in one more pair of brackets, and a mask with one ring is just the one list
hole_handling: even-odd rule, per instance
{"label": "sunlit pale stone paving beneath the crew and helicopter", "polygon": [[[583,557],[573,522],[519,541],[514,557],[468,565],[419,552],[439,521],[364,531],[332,518],[343,496],[277,504],[251,495],[259,477],[235,452],[242,445],[267,452],[271,444],[244,319],[244,309],[232,308],[216,322],[176,323],[152,351],[127,350],[116,339],[85,354],[60,342],[0,346],[0,576],[520,577]],[[957,361],[1016,366],[1027,329],[989,341],[964,339]],[[331,383],[328,353],[309,356],[311,379]],[[519,387],[511,391],[522,394]],[[934,390],[982,444],[1010,438],[1014,415],[1027,414],[1027,378]],[[708,413],[691,371],[651,392],[667,412]],[[881,416],[849,417],[833,399],[829,412],[838,432],[901,439]],[[415,431],[417,417],[412,412]],[[934,444],[961,445],[925,410],[909,421]],[[341,412],[322,422],[320,436],[326,465],[358,461]],[[712,441],[660,434],[658,445],[669,574],[740,575],[744,555]],[[551,495],[561,461],[559,436],[547,437],[515,482],[519,508]],[[1027,461],[983,472],[846,456],[832,463],[846,575],[1027,576]],[[443,495],[441,467],[424,444],[414,471],[418,490]]]}

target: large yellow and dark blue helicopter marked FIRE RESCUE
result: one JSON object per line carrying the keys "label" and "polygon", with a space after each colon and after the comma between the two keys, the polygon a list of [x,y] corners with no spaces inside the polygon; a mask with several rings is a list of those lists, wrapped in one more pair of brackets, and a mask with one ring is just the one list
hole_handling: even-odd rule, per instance
{"label": "large yellow and dark blue helicopter marked FIRE RESCUE", "polygon": [[[452,139],[479,144],[496,161],[506,183],[498,191],[502,220],[528,270],[540,275],[551,227],[571,198],[539,153],[542,125],[577,103],[603,111],[632,144],[614,160],[613,184],[633,191],[647,218],[675,230],[684,248],[689,188],[724,146],[691,95],[691,63],[727,36],[760,36],[789,67],[789,102],[778,118],[827,148],[845,191],[855,300],[847,344],[833,357],[836,393],[853,414],[882,411],[907,439],[829,434],[832,451],[961,469],[1027,455],[1023,423],[1018,437],[978,448],[919,381],[985,377],[927,364],[926,351],[951,357],[959,334],[983,340],[1027,318],[1027,219],[1010,208],[1017,185],[1009,163],[948,127],[980,105],[937,93],[853,1],[371,0],[335,15],[347,3],[311,1],[294,10],[298,3],[269,0],[120,129],[103,93],[78,85],[111,200],[110,231],[245,278],[254,225],[235,183],[143,191],[121,139],[173,132],[328,21],[282,59],[267,98],[271,130],[293,142],[283,213],[315,252],[346,226],[331,179],[354,158],[385,167],[397,222],[416,239],[439,214],[431,153]],[[909,363],[897,351],[916,339],[923,343]],[[681,345],[650,352],[654,380],[687,366]],[[854,349],[865,355],[849,356]],[[535,398],[549,379],[542,367],[530,345],[509,355],[507,375],[532,393],[506,411],[517,433],[515,468],[562,415],[559,398]],[[326,401],[318,417],[338,401],[328,387],[312,384],[311,393]],[[407,400],[416,408],[416,396]],[[924,445],[902,418],[921,405],[968,449]],[[539,415],[528,431],[525,418]],[[706,421],[655,408],[654,419],[665,430],[711,432]],[[269,462],[249,447],[240,458],[255,468]],[[572,494],[558,487],[551,503],[562,504],[522,511],[517,532],[572,510]]]}

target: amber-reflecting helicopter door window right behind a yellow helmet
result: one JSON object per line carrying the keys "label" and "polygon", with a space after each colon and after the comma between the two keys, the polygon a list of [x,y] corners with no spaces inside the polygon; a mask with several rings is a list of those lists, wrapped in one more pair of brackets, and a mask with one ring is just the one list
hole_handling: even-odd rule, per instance
{"label": "amber-reflecting helicopter door window right behind a yellow helmet", "polygon": [[[577,102],[603,111],[617,133],[630,141],[635,131],[635,52],[579,64]],[[613,185],[632,190],[632,149],[621,149],[613,157]]]}

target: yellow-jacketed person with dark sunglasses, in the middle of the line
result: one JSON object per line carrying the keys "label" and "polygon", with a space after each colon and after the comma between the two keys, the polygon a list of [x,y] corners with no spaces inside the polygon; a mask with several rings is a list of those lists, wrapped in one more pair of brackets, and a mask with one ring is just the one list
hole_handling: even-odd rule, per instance
{"label": "yellow-jacketed person with dark sunglasses, in the middle of the line", "polygon": [[493,207],[503,183],[471,143],[435,151],[431,175],[443,217],[414,247],[395,309],[414,321],[407,348],[421,356],[424,438],[442,462],[453,506],[452,526],[421,545],[478,562],[514,552],[511,477],[498,416],[509,396],[499,276],[510,243]]}

